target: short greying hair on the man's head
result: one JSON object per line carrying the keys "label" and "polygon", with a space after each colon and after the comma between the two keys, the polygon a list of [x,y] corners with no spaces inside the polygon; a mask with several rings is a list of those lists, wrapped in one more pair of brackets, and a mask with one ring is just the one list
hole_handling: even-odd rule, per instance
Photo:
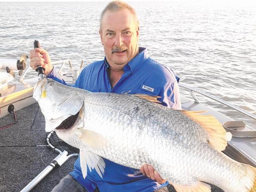
{"label": "short greying hair on the man's head", "polygon": [[111,1],[108,3],[108,5],[103,9],[103,11],[100,13],[100,31],[102,30],[101,28],[101,22],[102,22],[102,18],[104,17],[104,14],[106,13],[106,11],[121,11],[122,9],[128,9],[132,15],[134,16],[136,22],[137,22],[137,27],[139,27],[139,19],[137,17],[137,14],[134,10],[134,8],[132,8],[131,6],[129,6],[126,2],[122,2],[122,1]]}

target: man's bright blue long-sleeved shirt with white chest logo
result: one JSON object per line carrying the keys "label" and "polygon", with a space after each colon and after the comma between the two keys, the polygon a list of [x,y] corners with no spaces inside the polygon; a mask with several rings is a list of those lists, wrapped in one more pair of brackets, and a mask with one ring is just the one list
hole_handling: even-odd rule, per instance
{"label": "man's bright blue long-sleeved shirt with white chest logo", "polygon": [[[161,104],[174,109],[181,109],[178,81],[180,78],[168,67],[157,63],[148,57],[146,48],[139,48],[139,54],[124,66],[124,73],[117,84],[111,88],[107,69],[109,64],[106,57],[103,61],[96,61],[85,67],[74,87],[86,89],[91,92],[113,92],[128,94],[149,94],[160,96]],[[67,85],[53,70],[47,78],[52,78],[59,83]],[[108,159],[102,158],[106,164],[103,179],[95,169],[92,172],[87,167],[87,176],[83,179],[80,158],[70,172],[76,181],[83,185],[89,192],[96,187],[100,192],[153,192],[169,183],[162,185],[141,174],[140,170],[122,166]]]}

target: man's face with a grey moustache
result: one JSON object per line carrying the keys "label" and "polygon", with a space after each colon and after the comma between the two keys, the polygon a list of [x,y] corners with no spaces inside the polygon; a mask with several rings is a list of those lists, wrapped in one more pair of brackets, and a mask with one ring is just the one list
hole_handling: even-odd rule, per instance
{"label": "man's face with a grey moustache", "polygon": [[102,18],[100,40],[113,68],[122,68],[138,53],[139,27],[128,9],[106,11]]}

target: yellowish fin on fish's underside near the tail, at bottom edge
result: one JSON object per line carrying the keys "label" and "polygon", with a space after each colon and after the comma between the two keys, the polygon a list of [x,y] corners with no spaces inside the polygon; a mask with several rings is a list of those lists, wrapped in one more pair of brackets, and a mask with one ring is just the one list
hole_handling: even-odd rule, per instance
{"label": "yellowish fin on fish's underside near the tail, at bottom edge", "polygon": [[211,186],[198,181],[195,185],[177,185],[172,184],[177,192],[211,192]]}

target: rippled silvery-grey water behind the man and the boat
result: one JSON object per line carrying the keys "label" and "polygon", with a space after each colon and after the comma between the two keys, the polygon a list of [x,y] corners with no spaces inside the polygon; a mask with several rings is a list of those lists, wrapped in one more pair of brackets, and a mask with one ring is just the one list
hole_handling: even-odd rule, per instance
{"label": "rippled silvery-grey water behind the man and the boat", "polygon": [[[98,35],[106,2],[0,2],[0,58],[19,59],[41,42],[52,61],[102,60]],[[140,20],[139,46],[169,65],[180,82],[256,115],[256,7],[243,4],[130,3]],[[29,61],[27,62],[29,65]],[[35,75],[31,72],[28,77]],[[188,92],[181,89],[184,96]],[[256,128],[256,121],[207,98],[210,105]]]}

